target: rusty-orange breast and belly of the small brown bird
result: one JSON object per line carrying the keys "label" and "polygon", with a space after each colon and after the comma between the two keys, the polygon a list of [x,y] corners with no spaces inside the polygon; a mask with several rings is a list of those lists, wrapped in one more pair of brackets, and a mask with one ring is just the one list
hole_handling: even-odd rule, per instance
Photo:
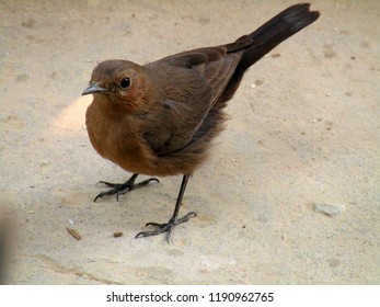
{"label": "rusty-orange breast and belly of the small brown bird", "polygon": [[[158,155],[143,137],[147,123],[94,101],[85,123],[92,146],[103,157],[126,171],[147,175],[189,174],[206,158],[209,141],[197,141],[181,150]],[[150,127],[152,128],[152,127]],[[156,132],[154,127],[152,129]]]}

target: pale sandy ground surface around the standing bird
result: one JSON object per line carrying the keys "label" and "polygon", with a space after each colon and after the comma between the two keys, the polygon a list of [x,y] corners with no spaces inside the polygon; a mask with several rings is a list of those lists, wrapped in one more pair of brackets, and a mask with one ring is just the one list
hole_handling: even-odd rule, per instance
{"label": "pale sandy ground surface around the standing bird", "polygon": [[311,2],[320,20],[246,73],[187,186],[182,213],[198,217],[168,245],[134,236],[169,219],[181,177],[92,202],[130,175],[88,139],[93,67],[228,43],[295,1],[1,0],[5,282],[379,284],[380,4]]}

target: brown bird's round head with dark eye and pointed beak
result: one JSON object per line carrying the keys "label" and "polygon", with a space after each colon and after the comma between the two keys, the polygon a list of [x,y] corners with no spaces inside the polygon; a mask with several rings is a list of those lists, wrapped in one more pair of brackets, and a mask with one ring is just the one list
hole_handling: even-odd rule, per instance
{"label": "brown bird's round head with dark eye and pointed beak", "polygon": [[128,60],[106,60],[92,71],[90,87],[82,95],[94,94],[94,101],[107,100],[130,113],[145,112],[151,92],[143,67]]}

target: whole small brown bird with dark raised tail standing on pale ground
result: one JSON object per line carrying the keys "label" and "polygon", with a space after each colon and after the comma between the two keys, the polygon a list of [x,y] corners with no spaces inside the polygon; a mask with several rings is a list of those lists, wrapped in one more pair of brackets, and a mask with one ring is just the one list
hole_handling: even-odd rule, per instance
{"label": "whole small brown bird with dark raised tail standing on pale ground", "polygon": [[94,99],[85,114],[96,151],[134,175],[125,183],[101,181],[112,189],[99,197],[147,185],[139,174],[176,175],[183,180],[173,216],[165,224],[148,223],[148,237],[168,231],[196,216],[179,218],[189,175],[207,158],[211,140],[223,129],[223,109],[246,69],[279,43],[314,22],[320,13],[309,3],[292,5],[235,42],[172,55],[140,66],[122,59],[99,64],[82,93]]}

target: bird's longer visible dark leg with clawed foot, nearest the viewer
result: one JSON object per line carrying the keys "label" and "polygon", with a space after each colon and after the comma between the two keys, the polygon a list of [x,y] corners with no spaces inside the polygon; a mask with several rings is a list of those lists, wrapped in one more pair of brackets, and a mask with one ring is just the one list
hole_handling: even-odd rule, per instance
{"label": "bird's longer visible dark leg with clawed foot, nearest the viewer", "polygon": [[173,213],[173,216],[171,217],[171,219],[168,223],[164,223],[164,224],[148,223],[146,226],[154,226],[154,227],[157,227],[157,229],[154,229],[152,231],[141,231],[141,232],[138,232],[135,238],[156,236],[156,235],[159,235],[159,234],[162,234],[162,232],[166,231],[168,232],[166,241],[169,243],[170,235],[171,235],[171,231],[174,228],[174,226],[176,226],[179,224],[182,224],[182,223],[185,223],[189,218],[197,216],[196,213],[191,212],[191,213],[186,214],[185,216],[183,216],[181,218],[177,218],[179,217],[179,213],[180,213],[180,207],[181,207],[181,204],[182,204],[182,198],[183,198],[183,195],[185,194],[185,190],[186,190],[186,184],[187,184],[188,178],[189,178],[188,174],[185,174],[183,177],[181,189],[180,189],[180,194],[179,194],[179,197],[176,198],[174,213]]}

